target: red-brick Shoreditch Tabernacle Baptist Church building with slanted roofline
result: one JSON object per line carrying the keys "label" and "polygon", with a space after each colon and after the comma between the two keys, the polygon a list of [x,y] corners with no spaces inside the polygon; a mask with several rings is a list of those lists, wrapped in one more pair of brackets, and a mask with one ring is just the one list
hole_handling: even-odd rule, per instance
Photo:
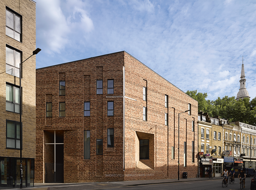
{"label": "red-brick Shoreditch Tabernacle Baptist Church building with slanted roofline", "polygon": [[36,183],[195,178],[197,135],[197,101],[125,51],[36,69]]}

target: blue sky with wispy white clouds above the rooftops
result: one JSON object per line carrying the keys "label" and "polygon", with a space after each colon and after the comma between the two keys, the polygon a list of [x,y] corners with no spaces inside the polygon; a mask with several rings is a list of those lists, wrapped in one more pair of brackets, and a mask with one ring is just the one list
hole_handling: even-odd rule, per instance
{"label": "blue sky with wispy white clouds above the rooftops", "polygon": [[36,68],[126,51],[186,92],[256,97],[256,2],[35,0]]}

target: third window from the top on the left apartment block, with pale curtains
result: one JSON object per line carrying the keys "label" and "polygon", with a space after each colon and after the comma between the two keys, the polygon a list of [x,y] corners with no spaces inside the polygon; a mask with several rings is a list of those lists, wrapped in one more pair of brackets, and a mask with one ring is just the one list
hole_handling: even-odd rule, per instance
{"label": "third window from the top on the left apartment block, with pale curtains", "polygon": [[6,84],[6,111],[20,113],[20,88]]}

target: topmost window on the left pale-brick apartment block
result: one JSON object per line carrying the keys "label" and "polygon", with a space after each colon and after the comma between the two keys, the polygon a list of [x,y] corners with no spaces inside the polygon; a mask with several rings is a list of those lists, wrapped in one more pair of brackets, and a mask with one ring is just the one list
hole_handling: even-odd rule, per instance
{"label": "topmost window on the left pale-brick apartment block", "polygon": [[5,34],[20,42],[21,33],[21,15],[6,9],[6,27]]}

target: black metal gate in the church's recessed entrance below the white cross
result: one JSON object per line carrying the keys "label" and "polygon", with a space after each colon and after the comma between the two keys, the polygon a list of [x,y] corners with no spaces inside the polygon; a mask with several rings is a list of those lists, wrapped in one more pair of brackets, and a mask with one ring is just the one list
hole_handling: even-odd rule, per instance
{"label": "black metal gate in the church's recessed entrance below the white cross", "polygon": [[45,182],[46,183],[63,183],[64,182],[64,164],[55,163],[56,170],[54,172],[54,163],[45,163]]}

